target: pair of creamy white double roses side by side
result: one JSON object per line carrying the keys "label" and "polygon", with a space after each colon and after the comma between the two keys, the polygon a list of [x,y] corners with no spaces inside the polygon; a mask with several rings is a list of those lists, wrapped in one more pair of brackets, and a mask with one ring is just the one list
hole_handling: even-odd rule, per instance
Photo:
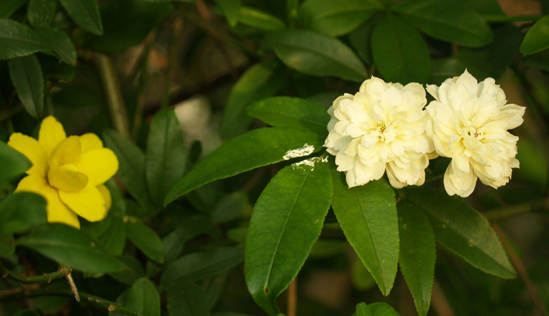
{"label": "pair of creamy white double roses side by side", "polygon": [[[428,85],[428,106],[418,83],[402,86],[372,77],[358,93],[345,93],[329,108],[324,146],[336,156],[349,188],[383,177],[394,188],[422,185],[429,159],[452,158],[444,175],[449,195],[469,196],[476,180],[498,188],[518,168],[524,106],[506,104],[493,78],[482,82],[465,71],[440,87]],[[424,109],[425,108],[425,109]]]}

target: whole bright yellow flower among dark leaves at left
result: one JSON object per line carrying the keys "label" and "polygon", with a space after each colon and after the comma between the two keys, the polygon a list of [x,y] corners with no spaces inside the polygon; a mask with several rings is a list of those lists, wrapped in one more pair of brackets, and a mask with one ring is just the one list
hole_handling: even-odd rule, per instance
{"label": "whole bright yellow flower among dark leaves at left", "polygon": [[80,228],[78,216],[91,222],[105,218],[111,200],[103,183],[117,172],[118,159],[97,135],[67,137],[60,122],[48,116],[38,140],[14,133],[8,145],[32,163],[15,192],[44,196],[49,223]]}

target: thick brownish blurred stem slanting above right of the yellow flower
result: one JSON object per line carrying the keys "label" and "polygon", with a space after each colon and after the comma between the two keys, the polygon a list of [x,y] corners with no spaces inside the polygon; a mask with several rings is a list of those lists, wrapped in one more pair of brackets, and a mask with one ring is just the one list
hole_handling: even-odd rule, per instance
{"label": "thick brownish blurred stem slanting above right of the yellow flower", "polygon": [[124,98],[122,98],[120,82],[117,78],[113,60],[104,54],[95,53],[93,54],[93,62],[100,75],[113,125],[118,133],[129,139],[128,114],[126,113],[126,106],[124,106]]}

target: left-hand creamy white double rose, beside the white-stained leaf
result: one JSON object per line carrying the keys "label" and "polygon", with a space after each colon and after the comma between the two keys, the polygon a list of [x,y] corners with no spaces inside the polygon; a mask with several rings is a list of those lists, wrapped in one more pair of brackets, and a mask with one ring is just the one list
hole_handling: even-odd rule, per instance
{"label": "left-hand creamy white double rose, beside the white-stained leaf", "polygon": [[403,87],[375,77],[355,95],[345,93],[334,101],[324,146],[336,156],[349,188],[377,180],[385,171],[394,188],[425,182],[428,153],[434,152],[425,133],[425,104],[421,84]]}

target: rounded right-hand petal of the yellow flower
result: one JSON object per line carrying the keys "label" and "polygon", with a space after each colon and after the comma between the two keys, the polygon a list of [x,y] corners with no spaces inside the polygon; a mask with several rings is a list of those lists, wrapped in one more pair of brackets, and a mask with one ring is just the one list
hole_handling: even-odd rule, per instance
{"label": "rounded right-hand petal of the yellow flower", "polygon": [[93,149],[82,153],[76,168],[88,176],[89,184],[100,185],[115,175],[118,170],[118,159],[113,150]]}

